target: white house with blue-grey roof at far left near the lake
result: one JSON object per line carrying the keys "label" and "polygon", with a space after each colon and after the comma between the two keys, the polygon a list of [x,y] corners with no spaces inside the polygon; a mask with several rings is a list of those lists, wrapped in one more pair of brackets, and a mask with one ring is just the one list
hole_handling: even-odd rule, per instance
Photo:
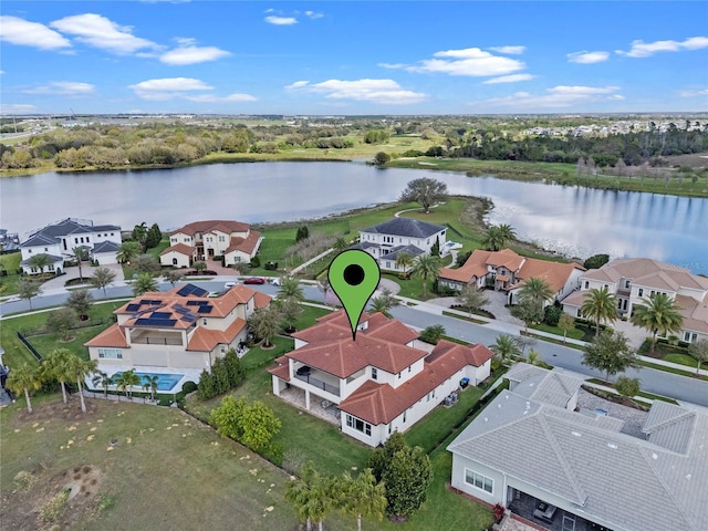
{"label": "white house with blue-grey roof at far left near the lake", "polygon": [[118,263],[119,247],[121,227],[117,225],[93,225],[91,220],[66,218],[32,232],[20,243],[20,263],[27,274],[38,274],[41,271],[30,264],[30,259],[46,254],[51,263],[44,272],[61,272],[65,260],[75,259],[74,249],[83,248],[90,260],[105,266]]}

